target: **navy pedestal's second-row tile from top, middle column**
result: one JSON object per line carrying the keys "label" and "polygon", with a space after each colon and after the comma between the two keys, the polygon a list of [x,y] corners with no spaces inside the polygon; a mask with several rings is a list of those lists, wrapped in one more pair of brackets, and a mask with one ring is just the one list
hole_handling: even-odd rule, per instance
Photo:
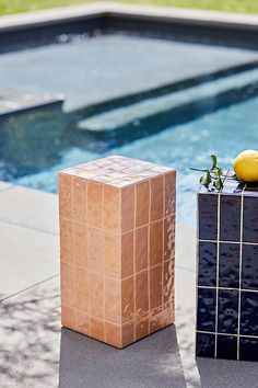
{"label": "navy pedestal's second-row tile from top, middle column", "polygon": [[220,287],[239,288],[239,252],[238,243],[220,243]]}

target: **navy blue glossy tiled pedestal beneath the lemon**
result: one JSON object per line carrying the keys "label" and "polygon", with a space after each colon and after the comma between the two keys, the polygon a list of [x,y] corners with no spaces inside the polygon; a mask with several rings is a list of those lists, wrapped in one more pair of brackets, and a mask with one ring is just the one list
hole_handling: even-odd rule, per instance
{"label": "navy blue glossy tiled pedestal beneath the lemon", "polygon": [[196,355],[258,361],[258,185],[198,194]]}

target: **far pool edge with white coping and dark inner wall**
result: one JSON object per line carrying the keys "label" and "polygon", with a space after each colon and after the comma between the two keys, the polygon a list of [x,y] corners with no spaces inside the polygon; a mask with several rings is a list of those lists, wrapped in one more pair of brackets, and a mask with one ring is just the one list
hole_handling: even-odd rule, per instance
{"label": "far pool edge with white coping and dark inner wall", "polygon": [[[0,18],[0,52],[56,43],[62,34],[122,32],[258,49],[258,16],[97,2]],[[20,45],[20,46],[19,46]]]}

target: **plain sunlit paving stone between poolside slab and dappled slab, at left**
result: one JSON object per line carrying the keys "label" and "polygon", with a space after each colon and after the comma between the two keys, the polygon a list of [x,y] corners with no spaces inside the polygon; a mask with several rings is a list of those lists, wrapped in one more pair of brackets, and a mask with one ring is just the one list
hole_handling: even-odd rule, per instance
{"label": "plain sunlit paving stone between poolside slab and dappled slab, at left", "polygon": [[0,236],[0,300],[59,273],[57,236],[3,221]]}

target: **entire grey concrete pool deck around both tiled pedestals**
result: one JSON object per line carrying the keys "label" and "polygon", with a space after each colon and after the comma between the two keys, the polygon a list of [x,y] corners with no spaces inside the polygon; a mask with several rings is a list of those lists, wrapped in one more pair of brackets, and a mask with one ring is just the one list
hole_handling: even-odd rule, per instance
{"label": "entire grey concrete pool deck around both tiled pedestals", "polygon": [[0,387],[256,386],[255,363],[195,360],[194,228],[177,227],[176,324],[125,350],[60,327],[56,194],[0,182]]}

